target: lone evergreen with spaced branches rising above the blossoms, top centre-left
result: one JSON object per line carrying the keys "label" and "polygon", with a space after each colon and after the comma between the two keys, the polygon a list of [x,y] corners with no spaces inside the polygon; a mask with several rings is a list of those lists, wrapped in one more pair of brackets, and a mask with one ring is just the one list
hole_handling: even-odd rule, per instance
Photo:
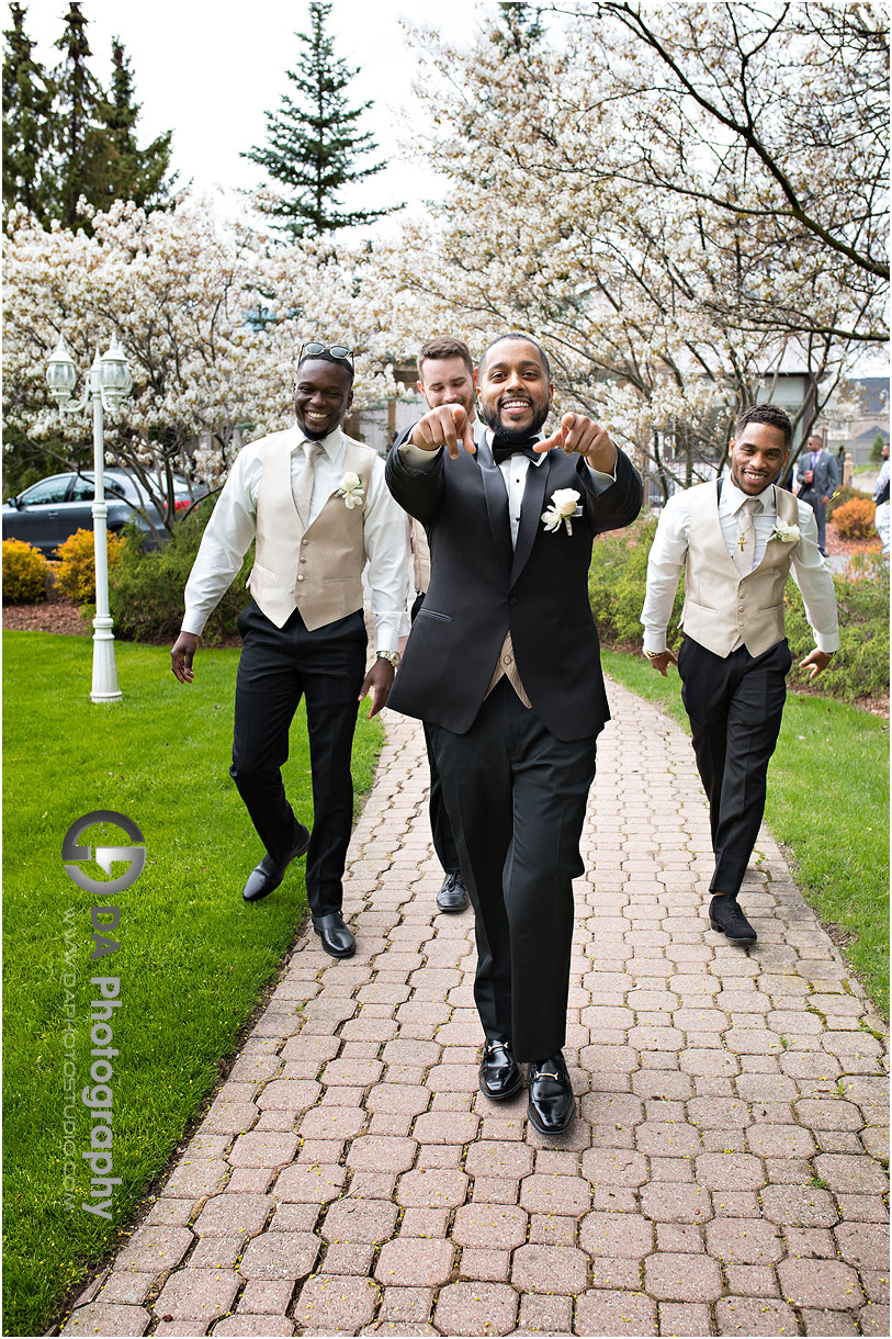
{"label": "lone evergreen with spaced branches rising above the blossoms, top centre-left", "polygon": [[350,107],[346,88],[356,74],[335,56],[325,32],[331,12],[328,0],[312,0],[311,32],[299,32],[300,68],[285,71],[295,86],[295,98],[283,94],[279,111],[267,112],[267,145],[254,146],[242,158],[264,167],[285,193],[263,204],[276,226],[291,237],[320,236],[339,228],[355,228],[388,213],[387,209],[343,212],[340,190],[374,175],[386,166],[356,167],[356,159],[374,153],[371,133],[356,122],[371,102]]}

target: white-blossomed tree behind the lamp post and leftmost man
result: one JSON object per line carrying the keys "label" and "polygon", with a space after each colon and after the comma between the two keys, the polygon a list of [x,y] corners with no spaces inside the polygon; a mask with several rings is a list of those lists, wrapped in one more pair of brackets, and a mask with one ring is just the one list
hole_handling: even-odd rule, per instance
{"label": "white-blossomed tree behind the lamp post and leftmost man", "polygon": [[[173,524],[171,473],[220,483],[245,438],[289,422],[300,344],[348,339],[366,348],[375,305],[359,297],[362,257],[339,260],[320,242],[271,245],[222,228],[200,200],[181,197],[149,216],[119,202],[91,225],[87,237],[44,232],[15,210],[7,217],[5,419],[52,441],[71,467],[87,422],[59,415],[47,359],[63,335],[86,372],[96,344],[117,333],[134,387],[107,423],[108,461],[138,477]],[[386,366],[358,360],[358,404],[394,392]]]}

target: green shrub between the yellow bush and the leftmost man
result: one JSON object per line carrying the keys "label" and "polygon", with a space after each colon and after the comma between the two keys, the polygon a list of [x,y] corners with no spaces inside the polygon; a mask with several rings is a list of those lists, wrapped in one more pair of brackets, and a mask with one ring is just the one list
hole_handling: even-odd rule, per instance
{"label": "green shrub between the yellow bush and the leftmost man", "polygon": [[[115,636],[126,641],[173,644],[182,627],[183,589],[216,498],[205,498],[178,521],[162,549],[143,552],[138,534],[127,534],[111,578],[111,615]],[[245,584],[253,564],[253,545],[236,580],[208,620],[204,640],[217,645],[237,636],[237,619],[249,601]]]}

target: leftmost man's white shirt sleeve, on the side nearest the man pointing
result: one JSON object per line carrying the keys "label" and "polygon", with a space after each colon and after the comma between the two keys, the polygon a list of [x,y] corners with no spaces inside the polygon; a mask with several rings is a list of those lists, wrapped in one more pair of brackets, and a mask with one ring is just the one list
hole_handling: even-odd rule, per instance
{"label": "leftmost man's white shirt sleeve, on the side nearest the man pointing", "polygon": [[396,651],[406,616],[411,560],[406,541],[406,513],[390,494],[380,458],[372,466],[368,498],[363,509],[363,530],[375,615],[375,649]]}

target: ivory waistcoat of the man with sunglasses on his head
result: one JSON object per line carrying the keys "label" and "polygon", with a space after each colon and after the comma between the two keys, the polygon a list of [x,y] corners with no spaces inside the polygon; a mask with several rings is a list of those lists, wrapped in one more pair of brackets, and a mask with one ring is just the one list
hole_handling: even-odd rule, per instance
{"label": "ivory waistcoat of the man with sunglasses on his head", "polygon": [[[291,490],[289,432],[277,432],[264,447],[257,494],[257,554],[248,589],[277,628],[295,609],[312,632],[363,607],[366,565],[363,503],[348,507],[336,493],[304,530]],[[375,453],[344,438],[344,473],[352,470],[368,498]]]}

